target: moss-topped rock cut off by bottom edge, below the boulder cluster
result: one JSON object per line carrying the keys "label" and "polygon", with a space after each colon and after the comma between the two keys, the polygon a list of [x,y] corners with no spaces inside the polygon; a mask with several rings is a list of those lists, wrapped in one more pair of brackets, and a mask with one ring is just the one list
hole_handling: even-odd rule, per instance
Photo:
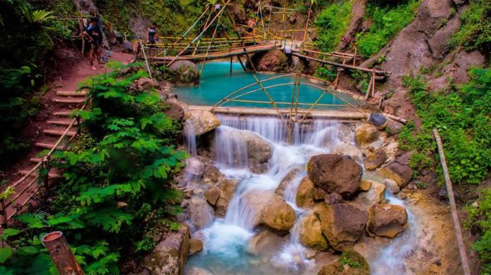
{"label": "moss-topped rock cut off by bottom edge, below the boulder cluster", "polygon": [[325,265],[317,275],[370,275],[370,266],[360,253],[349,250],[336,262]]}

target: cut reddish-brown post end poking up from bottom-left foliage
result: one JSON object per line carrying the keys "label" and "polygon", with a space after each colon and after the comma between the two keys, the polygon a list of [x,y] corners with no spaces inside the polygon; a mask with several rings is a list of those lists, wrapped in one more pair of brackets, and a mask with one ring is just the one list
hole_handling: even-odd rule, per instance
{"label": "cut reddish-brown post end poking up from bottom-left foliage", "polygon": [[51,260],[55,263],[60,275],[83,275],[78,262],[68,246],[67,239],[61,231],[54,231],[43,237],[43,244],[48,248]]}

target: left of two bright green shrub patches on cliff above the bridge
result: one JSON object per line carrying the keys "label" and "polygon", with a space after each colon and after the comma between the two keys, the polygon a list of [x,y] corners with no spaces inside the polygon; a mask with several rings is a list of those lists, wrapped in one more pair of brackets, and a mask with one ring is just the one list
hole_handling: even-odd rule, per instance
{"label": "left of two bright green shrub patches on cliff above the bridge", "polygon": [[338,1],[327,6],[316,19],[318,29],[316,45],[324,52],[336,48],[351,19],[351,1]]}

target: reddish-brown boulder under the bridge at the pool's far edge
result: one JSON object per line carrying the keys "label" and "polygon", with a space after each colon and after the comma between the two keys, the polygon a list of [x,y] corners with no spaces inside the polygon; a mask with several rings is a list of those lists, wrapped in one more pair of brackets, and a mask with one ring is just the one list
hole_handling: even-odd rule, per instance
{"label": "reddish-brown boulder under the bridge at the pool's far edge", "polygon": [[[288,57],[285,52],[274,49],[267,52],[259,52],[251,58],[257,71],[288,71]],[[247,66],[250,68],[250,64]]]}

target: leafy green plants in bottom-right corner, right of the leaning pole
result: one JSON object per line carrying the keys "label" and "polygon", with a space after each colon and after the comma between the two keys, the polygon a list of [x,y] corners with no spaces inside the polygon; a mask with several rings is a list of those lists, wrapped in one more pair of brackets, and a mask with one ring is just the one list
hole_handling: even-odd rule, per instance
{"label": "leafy green plants in bottom-right corner, right of the leaning pole", "polygon": [[477,204],[466,207],[469,218],[466,227],[476,227],[480,232],[472,248],[483,264],[480,274],[491,274],[491,189],[483,190]]}

